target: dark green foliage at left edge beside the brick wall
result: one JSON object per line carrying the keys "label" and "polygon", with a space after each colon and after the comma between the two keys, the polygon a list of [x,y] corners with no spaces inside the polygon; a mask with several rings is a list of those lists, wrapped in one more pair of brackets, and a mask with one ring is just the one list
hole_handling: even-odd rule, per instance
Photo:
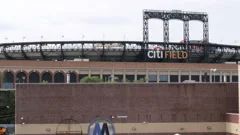
{"label": "dark green foliage at left edge beside the brick wall", "polygon": [[15,91],[1,91],[0,123],[15,123]]}

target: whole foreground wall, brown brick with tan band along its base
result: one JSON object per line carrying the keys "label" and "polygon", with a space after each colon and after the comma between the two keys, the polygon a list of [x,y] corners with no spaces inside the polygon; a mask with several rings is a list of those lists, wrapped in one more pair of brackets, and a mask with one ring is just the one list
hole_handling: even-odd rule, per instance
{"label": "whole foreground wall, brown brick with tan band along its base", "polygon": [[18,84],[16,134],[56,134],[70,117],[84,134],[97,117],[118,135],[238,134],[238,110],[237,83]]}

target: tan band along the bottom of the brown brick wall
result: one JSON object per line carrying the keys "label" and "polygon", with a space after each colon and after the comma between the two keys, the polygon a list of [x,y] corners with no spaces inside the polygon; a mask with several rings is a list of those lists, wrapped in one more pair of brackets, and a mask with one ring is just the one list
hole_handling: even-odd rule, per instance
{"label": "tan band along the bottom of the brown brick wall", "polygon": [[[87,134],[87,123],[70,125],[70,131],[82,131]],[[25,124],[16,126],[16,134],[55,134],[58,124]],[[69,125],[60,125],[58,131],[68,131]],[[80,128],[81,127],[81,128]],[[226,123],[114,123],[117,134],[155,134],[155,133],[223,133],[226,132]],[[50,131],[49,131],[50,129]],[[235,129],[235,130],[234,130]],[[227,131],[236,132],[236,125],[228,123]]]}

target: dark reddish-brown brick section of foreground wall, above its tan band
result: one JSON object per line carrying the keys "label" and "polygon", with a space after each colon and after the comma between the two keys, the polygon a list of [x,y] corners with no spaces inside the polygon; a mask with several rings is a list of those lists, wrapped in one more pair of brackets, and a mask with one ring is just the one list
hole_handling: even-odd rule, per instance
{"label": "dark reddish-brown brick section of foreground wall, above its tan band", "polygon": [[16,123],[58,123],[74,116],[127,115],[113,122],[224,122],[238,113],[235,83],[197,84],[19,84]]}

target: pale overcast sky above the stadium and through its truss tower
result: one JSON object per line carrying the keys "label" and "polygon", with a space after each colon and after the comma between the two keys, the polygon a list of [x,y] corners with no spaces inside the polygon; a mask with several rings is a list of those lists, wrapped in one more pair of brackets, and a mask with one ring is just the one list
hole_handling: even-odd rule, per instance
{"label": "pale overcast sky above the stadium and through its truss tower", "polygon": [[[177,9],[207,12],[211,42],[240,44],[240,0],[1,0],[0,5],[0,42],[41,36],[82,40],[82,35],[83,40],[142,41],[143,9]],[[202,27],[190,22],[190,39],[202,39]],[[163,41],[161,20],[150,20],[149,31],[150,41]],[[170,21],[170,41],[182,39],[183,23]]]}

